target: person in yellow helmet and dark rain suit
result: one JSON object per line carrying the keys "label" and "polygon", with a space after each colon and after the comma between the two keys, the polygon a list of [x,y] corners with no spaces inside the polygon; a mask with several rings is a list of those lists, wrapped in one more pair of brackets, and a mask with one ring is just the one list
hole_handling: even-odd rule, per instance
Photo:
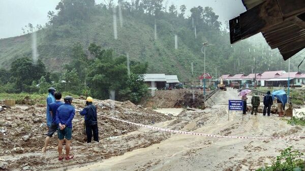
{"label": "person in yellow helmet and dark rain suit", "polygon": [[97,108],[92,103],[93,103],[93,98],[87,97],[86,107],[83,110],[79,111],[79,114],[81,116],[85,116],[87,143],[91,143],[92,132],[93,132],[94,141],[99,142]]}

